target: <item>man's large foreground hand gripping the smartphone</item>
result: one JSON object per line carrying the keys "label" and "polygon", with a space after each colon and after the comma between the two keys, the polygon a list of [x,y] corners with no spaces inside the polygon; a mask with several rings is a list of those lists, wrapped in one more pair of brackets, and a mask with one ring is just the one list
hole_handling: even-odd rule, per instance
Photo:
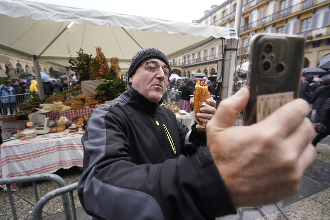
{"label": "man's large foreground hand gripping the smartphone", "polygon": [[208,148],[236,207],[295,194],[316,157],[306,101],[288,102],[259,123],[233,126],[248,98],[248,89],[241,88],[221,101],[206,127]]}

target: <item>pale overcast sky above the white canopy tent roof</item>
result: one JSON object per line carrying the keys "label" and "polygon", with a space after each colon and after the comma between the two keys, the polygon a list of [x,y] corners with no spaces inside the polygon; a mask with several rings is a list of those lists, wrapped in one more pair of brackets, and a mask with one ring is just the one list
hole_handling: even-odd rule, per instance
{"label": "pale overcast sky above the white canopy tent roof", "polygon": [[133,1],[133,0],[28,0],[33,2],[44,2],[70,6],[76,8],[87,8],[119,14],[130,14],[144,17],[152,17],[164,20],[191,22],[204,16],[205,10],[210,10],[212,5],[221,5],[225,0],[200,0],[200,1]]}

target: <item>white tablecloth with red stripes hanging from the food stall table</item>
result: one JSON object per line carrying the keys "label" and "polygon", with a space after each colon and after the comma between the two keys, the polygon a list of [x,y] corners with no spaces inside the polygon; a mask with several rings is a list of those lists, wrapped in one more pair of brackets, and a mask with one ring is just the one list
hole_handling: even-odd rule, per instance
{"label": "white tablecloth with red stripes hanging from the food stall table", "polygon": [[[60,168],[82,167],[81,137],[66,136],[48,140],[4,142],[0,145],[0,178],[53,173]],[[11,184],[12,190],[19,188]]]}

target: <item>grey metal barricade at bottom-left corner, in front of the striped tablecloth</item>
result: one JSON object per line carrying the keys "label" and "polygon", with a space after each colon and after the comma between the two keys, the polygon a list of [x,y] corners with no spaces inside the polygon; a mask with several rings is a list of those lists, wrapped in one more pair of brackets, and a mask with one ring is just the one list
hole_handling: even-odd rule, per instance
{"label": "grey metal barricade at bottom-left corner, in front of the striped tablecloth", "polygon": [[[50,174],[50,173],[34,174],[34,175],[21,176],[21,177],[0,178],[0,185],[6,185],[7,194],[8,194],[8,198],[9,198],[9,203],[10,203],[10,206],[12,208],[12,213],[13,213],[14,220],[17,220],[18,218],[17,218],[16,208],[15,208],[15,204],[14,204],[14,198],[13,198],[13,194],[12,194],[12,191],[11,191],[11,188],[10,188],[10,184],[12,184],[12,183],[22,183],[22,182],[32,182],[34,196],[35,196],[36,202],[38,204],[38,202],[40,200],[39,200],[36,181],[40,181],[40,180],[51,180],[51,181],[57,183],[57,185],[59,187],[66,186],[66,182],[64,181],[64,179],[62,179],[60,176],[58,176],[56,174]],[[70,213],[70,204],[69,204],[68,194],[62,194],[62,203],[63,203],[65,219],[66,220],[71,220],[72,216],[71,216],[71,213]],[[43,204],[43,202],[40,202],[39,204]]]}

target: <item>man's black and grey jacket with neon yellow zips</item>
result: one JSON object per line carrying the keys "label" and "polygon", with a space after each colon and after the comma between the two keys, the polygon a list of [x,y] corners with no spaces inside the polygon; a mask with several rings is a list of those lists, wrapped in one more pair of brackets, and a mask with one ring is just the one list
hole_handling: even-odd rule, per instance
{"label": "man's black and grey jacket with neon yellow zips", "polygon": [[[185,156],[188,128],[127,85],[98,106],[82,137],[78,195],[97,219],[214,219],[236,212],[206,147]],[[192,126],[190,141],[205,146]]]}

